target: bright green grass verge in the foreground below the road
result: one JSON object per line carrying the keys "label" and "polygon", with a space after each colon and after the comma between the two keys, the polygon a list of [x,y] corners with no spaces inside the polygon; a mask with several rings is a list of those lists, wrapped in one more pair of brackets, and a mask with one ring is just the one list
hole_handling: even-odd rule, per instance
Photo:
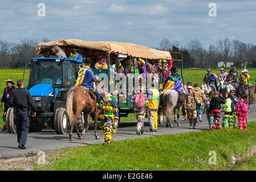
{"label": "bright green grass verge in the foreground below the road", "polygon": [[[160,135],[113,142],[112,146],[96,144],[61,151],[66,155],[36,170],[253,170],[256,158],[234,166],[231,155],[246,155],[256,144],[256,122],[247,131],[222,129]],[[118,134],[117,134],[118,135]],[[209,152],[217,154],[217,164],[209,164]]]}

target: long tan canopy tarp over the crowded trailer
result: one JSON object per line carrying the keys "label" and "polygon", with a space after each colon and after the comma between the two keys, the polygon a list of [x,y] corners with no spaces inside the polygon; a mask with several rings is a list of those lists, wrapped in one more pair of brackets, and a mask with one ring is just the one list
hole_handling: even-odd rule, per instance
{"label": "long tan canopy tarp over the crowded trailer", "polygon": [[80,49],[91,49],[106,53],[120,53],[132,57],[143,57],[147,59],[172,59],[170,52],[159,51],[146,46],[139,46],[132,43],[120,42],[90,42],[78,39],[56,40],[47,43],[39,43],[36,46],[36,54],[43,53],[45,49],[54,46],[60,47],[79,47]]}

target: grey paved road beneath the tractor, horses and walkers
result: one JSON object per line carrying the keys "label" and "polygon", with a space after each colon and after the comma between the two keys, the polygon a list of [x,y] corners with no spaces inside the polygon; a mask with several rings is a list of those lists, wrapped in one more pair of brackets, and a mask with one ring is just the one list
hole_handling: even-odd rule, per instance
{"label": "grey paved road beneath the tractor, horses and walkers", "polygon": [[[250,114],[248,117],[249,121],[256,120],[256,105],[251,105]],[[197,123],[197,130],[190,130],[188,121],[181,121],[181,126],[177,127],[173,123],[172,128],[165,127],[165,124],[159,125],[159,131],[156,134],[145,132],[143,135],[138,136],[135,134],[136,122],[120,123],[117,135],[113,137],[113,140],[121,140],[127,138],[140,138],[149,137],[152,135],[162,135],[162,134],[175,134],[184,133],[189,131],[203,131],[208,130],[208,122],[206,116],[203,116],[203,122]],[[148,123],[145,123],[145,130],[149,129]],[[103,143],[103,134],[99,130],[99,140],[94,138],[94,130],[90,129],[86,134],[86,137],[79,140],[77,135],[74,134],[74,141],[70,142],[68,139],[68,134],[57,135],[54,130],[45,129],[41,133],[29,133],[27,140],[27,150],[19,150],[17,148],[17,136],[16,134],[9,134],[7,131],[0,131],[0,158],[10,158],[12,156],[19,155],[32,155],[37,154],[38,151],[54,150],[57,148],[79,146],[84,144],[95,144]]]}

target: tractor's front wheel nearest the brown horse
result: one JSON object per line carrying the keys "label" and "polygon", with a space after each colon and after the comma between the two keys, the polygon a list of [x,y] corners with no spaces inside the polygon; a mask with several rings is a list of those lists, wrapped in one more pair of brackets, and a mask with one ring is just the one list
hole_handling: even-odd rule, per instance
{"label": "tractor's front wheel nearest the brown horse", "polygon": [[68,114],[63,107],[58,108],[55,112],[54,127],[57,134],[63,135],[67,132]]}

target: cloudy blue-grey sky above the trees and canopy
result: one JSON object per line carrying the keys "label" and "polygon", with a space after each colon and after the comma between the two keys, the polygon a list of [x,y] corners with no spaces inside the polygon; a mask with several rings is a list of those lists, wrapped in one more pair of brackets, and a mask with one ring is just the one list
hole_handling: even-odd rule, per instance
{"label": "cloudy blue-grey sky above the trees and canopy", "polygon": [[[217,17],[208,15],[216,3]],[[46,16],[38,16],[38,3]],[[82,39],[159,46],[162,38],[204,47],[220,38],[256,43],[256,1],[204,0],[56,0],[0,1],[0,39]]]}

